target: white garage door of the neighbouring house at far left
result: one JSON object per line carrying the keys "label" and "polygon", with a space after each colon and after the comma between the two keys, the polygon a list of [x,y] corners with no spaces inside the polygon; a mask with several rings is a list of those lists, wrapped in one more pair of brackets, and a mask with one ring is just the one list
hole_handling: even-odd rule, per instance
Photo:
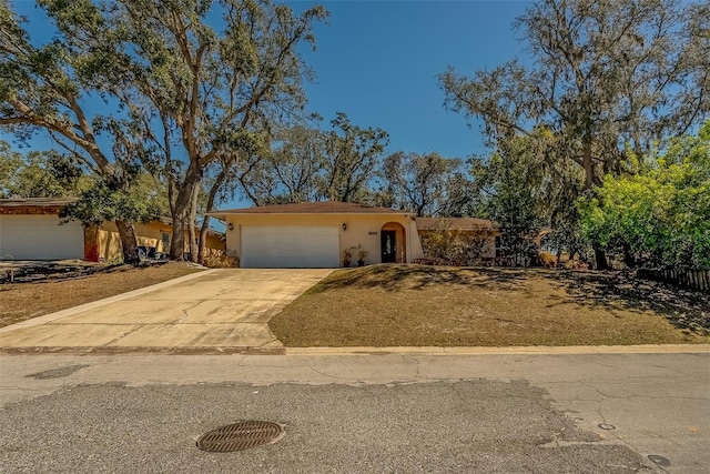
{"label": "white garage door of the neighbouring house at far left", "polygon": [[0,215],[0,254],[14,260],[84,258],[79,222],[60,224],[57,215]]}

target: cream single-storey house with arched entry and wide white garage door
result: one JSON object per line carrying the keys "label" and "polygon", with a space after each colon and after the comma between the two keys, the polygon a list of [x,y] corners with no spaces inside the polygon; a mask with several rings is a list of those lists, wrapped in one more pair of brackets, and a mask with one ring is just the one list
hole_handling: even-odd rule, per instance
{"label": "cream single-storey house with arched entry and wide white garage door", "polygon": [[336,268],[346,250],[357,261],[408,263],[423,258],[415,215],[325,201],[210,212],[226,223],[226,251],[243,268]]}

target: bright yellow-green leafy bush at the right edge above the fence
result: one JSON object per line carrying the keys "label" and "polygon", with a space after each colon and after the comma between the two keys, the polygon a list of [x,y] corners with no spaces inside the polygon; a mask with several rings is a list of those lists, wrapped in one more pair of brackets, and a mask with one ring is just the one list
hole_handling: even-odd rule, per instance
{"label": "bright yellow-green leafy bush at the right edge above the fence", "polygon": [[632,263],[710,269],[710,121],[579,201],[582,233]]}

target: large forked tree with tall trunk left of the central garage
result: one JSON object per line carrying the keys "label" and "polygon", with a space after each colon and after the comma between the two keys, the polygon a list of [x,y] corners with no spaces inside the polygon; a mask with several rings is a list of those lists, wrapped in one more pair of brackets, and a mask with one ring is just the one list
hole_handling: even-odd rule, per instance
{"label": "large forked tree with tall trunk left of the central garage", "polygon": [[[154,119],[163,125],[154,143],[172,183],[173,258],[182,252],[182,225],[206,167],[250,151],[271,122],[305,103],[301,83],[311,71],[297,47],[315,44],[312,24],[326,16],[321,7],[295,16],[270,0],[219,4],[219,29],[206,22],[207,1],[126,2],[116,17],[116,24],[130,24],[130,43],[140,54],[126,84],[136,93],[125,101],[148,101],[145,110],[158,111]],[[155,137],[152,127],[144,130]],[[182,144],[176,158],[166,137]]]}

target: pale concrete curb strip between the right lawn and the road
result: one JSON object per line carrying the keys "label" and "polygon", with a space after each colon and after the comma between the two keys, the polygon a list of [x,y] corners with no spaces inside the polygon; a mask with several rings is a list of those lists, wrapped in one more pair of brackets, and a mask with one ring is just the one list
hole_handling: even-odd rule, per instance
{"label": "pale concrete curb strip between the right lawn and the road", "polygon": [[574,355],[710,354],[710,344],[569,345],[511,347],[286,347],[286,355]]}

